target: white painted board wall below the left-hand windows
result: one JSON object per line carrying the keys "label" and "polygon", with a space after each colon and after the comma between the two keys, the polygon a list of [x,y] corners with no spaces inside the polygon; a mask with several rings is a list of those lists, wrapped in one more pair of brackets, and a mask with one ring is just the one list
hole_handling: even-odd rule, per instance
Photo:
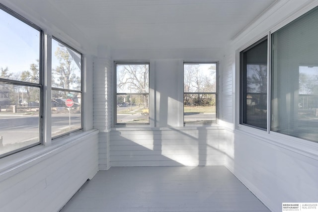
{"label": "white painted board wall below the left-hand windows", "polygon": [[[97,173],[98,131],[61,142],[64,144],[34,147],[43,153],[9,168],[3,169],[1,164],[1,212],[57,212]],[[5,161],[28,151],[32,149],[10,155]]]}

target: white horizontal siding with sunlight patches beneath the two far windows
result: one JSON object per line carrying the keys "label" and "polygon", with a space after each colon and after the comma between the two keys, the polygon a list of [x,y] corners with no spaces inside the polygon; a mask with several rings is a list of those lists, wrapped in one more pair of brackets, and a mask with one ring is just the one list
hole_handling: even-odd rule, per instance
{"label": "white horizontal siding with sunlight patches beneath the two far windows", "polygon": [[224,129],[120,130],[110,132],[111,166],[223,165]]}

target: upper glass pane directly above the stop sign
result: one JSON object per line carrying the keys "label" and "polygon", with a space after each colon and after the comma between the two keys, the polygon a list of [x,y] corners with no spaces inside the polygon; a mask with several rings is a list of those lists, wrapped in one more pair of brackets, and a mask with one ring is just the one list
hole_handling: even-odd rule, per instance
{"label": "upper glass pane directly above the stop sign", "polygon": [[52,87],[81,90],[81,55],[52,39]]}

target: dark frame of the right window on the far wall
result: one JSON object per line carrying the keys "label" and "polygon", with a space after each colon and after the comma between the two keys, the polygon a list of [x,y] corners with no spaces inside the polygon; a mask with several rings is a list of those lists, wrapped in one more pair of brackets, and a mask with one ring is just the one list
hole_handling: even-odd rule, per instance
{"label": "dark frame of the right window on the far wall", "polygon": [[[184,65],[186,64],[215,64],[216,65],[216,91],[215,92],[184,92]],[[218,124],[218,88],[219,88],[219,83],[218,83],[218,72],[219,72],[219,62],[183,62],[183,75],[182,75],[182,90],[183,90],[183,95],[182,95],[182,120],[183,120],[183,126],[213,126]],[[184,95],[186,94],[212,94],[215,95],[215,123],[213,120],[211,120],[211,123],[208,124],[201,124],[201,123],[185,123],[184,121]]]}

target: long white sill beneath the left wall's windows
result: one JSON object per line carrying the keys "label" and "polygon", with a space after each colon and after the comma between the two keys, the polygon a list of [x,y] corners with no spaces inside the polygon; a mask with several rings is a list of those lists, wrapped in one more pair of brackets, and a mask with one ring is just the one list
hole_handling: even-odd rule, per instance
{"label": "long white sill beneath the left wall's windows", "polygon": [[23,151],[8,155],[0,159],[0,181],[19,173],[39,161],[49,158],[80,142],[82,138],[98,134],[98,130],[90,130],[72,135],[67,138],[58,138],[49,146],[37,145]]}

